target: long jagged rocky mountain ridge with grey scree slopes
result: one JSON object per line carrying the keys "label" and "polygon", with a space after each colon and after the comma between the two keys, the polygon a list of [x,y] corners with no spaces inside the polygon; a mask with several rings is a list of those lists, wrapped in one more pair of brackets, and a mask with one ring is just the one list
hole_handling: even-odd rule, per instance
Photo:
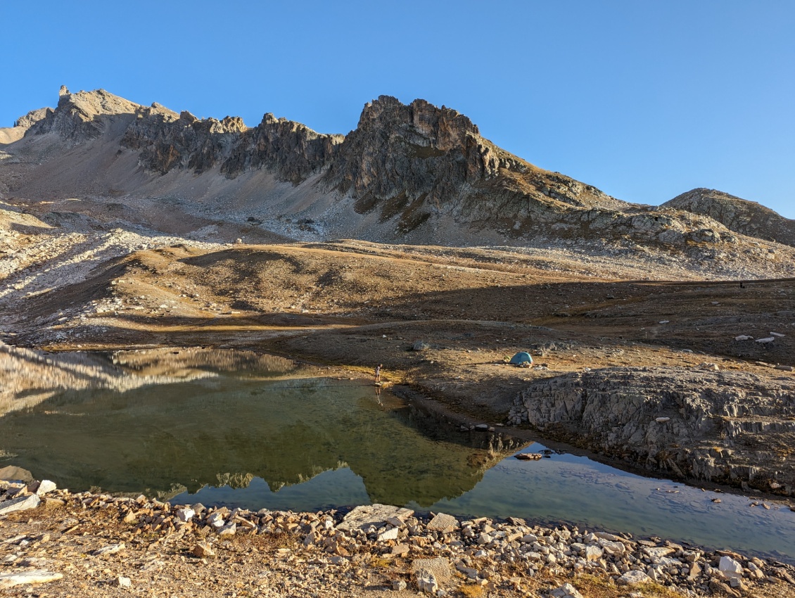
{"label": "long jagged rocky mountain ridge with grey scree slopes", "polygon": [[421,99],[405,105],[382,95],[343,136],[270,114],[247,127],[238,117],[200,119],[62,87],[54,111],[29,113],[6,138],[19,128],[24,137],[5,148],[29,168],[7,185],[14,195],[176,197],[186,209],[200,200],[303,240],[619,243],[719,254],[737,250],[738,234],[767,228],[740,226],[751,205],[743,200],[745,216],[730,219],[703,201],[653,208],[617,200],[494,146],[466,116]]}

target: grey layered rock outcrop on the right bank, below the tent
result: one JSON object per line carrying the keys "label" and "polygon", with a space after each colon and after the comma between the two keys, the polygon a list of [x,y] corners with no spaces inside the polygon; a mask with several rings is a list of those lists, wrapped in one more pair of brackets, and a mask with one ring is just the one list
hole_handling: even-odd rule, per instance
{"label": "grey layered rock outcrop on the right bank, below the tent", "polygon": [[789,376],[615,367],[533,383],[514,421],[671,476],[795,495]]}

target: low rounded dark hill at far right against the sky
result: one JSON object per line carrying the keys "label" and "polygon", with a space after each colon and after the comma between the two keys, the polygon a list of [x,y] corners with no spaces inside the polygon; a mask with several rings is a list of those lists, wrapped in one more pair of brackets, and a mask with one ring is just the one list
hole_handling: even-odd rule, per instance
{"label": "low rounded dark hill at far right against the sky", "polygon": [[692,189],[663,206],[703,214],[731,231],[795,247],[795,220],[778,215],[755,201],[743,200],[716,189]]}

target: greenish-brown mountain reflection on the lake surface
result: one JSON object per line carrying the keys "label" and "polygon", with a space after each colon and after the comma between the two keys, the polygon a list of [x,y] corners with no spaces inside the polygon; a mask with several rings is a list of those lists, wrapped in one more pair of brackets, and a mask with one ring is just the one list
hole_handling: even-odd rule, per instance
{"label": "greenish-brown mountain reflection on the lake surface", "polygon": [[[0,463],[62,487],[164,498],[255,476],[277,491],[347,467],[373,502],[428,506],[470,490],[521,445],[446,431],[392,394],[309,377],[320,372],[285,359],[176,351],[87,355],[79,371],[74,356],[27,359],[46,398],[0,417],[0,450],[14,455]],[[48,367],[58,375],[41,376]],[[77,388],[60,390],[70,380]]]}

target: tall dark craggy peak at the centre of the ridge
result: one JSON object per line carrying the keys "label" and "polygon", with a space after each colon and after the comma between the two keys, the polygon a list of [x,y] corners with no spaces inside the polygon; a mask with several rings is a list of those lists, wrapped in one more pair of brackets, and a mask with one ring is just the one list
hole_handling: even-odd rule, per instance
{"label": "tall dark craggy peak at the centre of the ridge", "polygon": [[572,208],[626,206],[499,149],[450,108],[421,99],[406,106],[385,95],[366,104],[325,181],[350,194],[356,212],[395,219],[403,232],[432,216],[452,216],[517,236],[550,211],[557,220]]}

